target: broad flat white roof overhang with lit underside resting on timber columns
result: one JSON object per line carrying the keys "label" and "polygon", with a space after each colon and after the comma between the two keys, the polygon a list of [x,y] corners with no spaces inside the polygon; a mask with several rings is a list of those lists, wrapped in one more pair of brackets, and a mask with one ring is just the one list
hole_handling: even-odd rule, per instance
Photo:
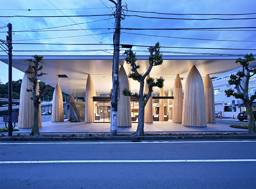
{"label": "broad flat white roof overhang with lit underside resting on timber columns", "polygon": [[[43,55],[43,72],[47,73],[39,79],[53,87],[59,83],[63,92],[84,97],[86,80],[91,75],[97,94],[109,94],[112,88],[112,61],[113,55]],[[180,74],[182,86],[185,85],[187,74],[195,65],[204,79],[206,74],[210,77],[228,72],[241,67],[235,64],[238,56],[210,56],[210,55],[163,55],[163,64],[154,66],[150,76],[165,79],[164,90],[173,88],[177,74]],[[240,57],[243,58],[243,57]],[[13,67],[25,72],[30,62],[31,55],[13,55]],[[123,65],[126,73],[130,67],[125,63],[125,56],[120,55],[120,65]],[[139,71],[145,73],[148,68],[148,55],[137,55],[137,63],[141,65]],[[0,61],[8,64],[8,55],[0,55]],[[254,63],[256,61],[252,61]],[[59,78],[57,75],[67,75],[68,78]],[[131,79],[130,79],[131,80]],[[131,91],[138,92],[139,83],[131,80]],[[158,93],[155,87],[153,93]]]}

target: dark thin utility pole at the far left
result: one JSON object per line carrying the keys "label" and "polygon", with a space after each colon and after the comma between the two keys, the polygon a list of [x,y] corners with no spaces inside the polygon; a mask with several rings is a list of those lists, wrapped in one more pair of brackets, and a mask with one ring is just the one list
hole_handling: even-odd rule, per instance
{"label": "dark thin utility pole at the far left", "polygon": [[13,124],[12,124],[12,111],[13,111],[13,95],[12,95],[12,67],[13,67],[13,57],[12,57],[12,24],[8,24],[8,36],[6,40],[8,41],[8,136],[13,135]]}

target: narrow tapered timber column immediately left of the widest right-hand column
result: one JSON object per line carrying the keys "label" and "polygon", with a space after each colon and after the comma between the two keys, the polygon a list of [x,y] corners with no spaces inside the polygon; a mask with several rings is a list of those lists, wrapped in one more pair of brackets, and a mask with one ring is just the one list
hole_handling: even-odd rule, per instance
{"label": "narrow tapered timber column immediately left of the widest right-hand column", "polygon": [[173,88],[172,122],[182,122],[183,92],[180,75],[177,74]]}

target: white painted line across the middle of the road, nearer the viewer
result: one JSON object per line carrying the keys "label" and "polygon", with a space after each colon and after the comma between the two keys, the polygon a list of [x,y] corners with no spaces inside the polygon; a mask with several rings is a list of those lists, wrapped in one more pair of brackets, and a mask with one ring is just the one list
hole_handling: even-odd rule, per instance
{"label": "white painted line across the middle of the road, nearer the viewer", "polygon": [[256,159],[1,161],[0,164],[3,164],[3,163],[161,163],[161,162],[256,162]]}

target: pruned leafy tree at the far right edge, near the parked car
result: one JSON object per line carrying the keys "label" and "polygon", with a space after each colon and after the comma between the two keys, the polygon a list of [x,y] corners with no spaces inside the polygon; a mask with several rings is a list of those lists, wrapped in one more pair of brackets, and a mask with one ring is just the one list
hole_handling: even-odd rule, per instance
{"label": "pruned leafy tree at the far right edge, near the parked car", "polygon": [[[238,58],[236,60],[236,63],[240,63],[243,66],[242,71],[238,71],[236,74],[230,75],[230,80],[228,83],[230,85],[235,85],[235,89],[237,92],[234,91],[234,89],[230,88],[228,90],[225,90],[225,93],[227,95],[234,96],[235,98],[242,99],[243,104],[246,108],[247,116],[248,116],[248,133],[256,134],[256,128],[255,128],[255,121],[253,117],[253,109],[252,109],[252,103],[256,98],[256,92],[249,97],[248,95],[248,86],[249,86],[249,79],[256,74],[256,68],[249,67],[249,62],[255,60],[253,57],[253,54],[246,54],[243,56],[245,59]],[[244,82],[244,86],[242,86],[242,83]]]}

